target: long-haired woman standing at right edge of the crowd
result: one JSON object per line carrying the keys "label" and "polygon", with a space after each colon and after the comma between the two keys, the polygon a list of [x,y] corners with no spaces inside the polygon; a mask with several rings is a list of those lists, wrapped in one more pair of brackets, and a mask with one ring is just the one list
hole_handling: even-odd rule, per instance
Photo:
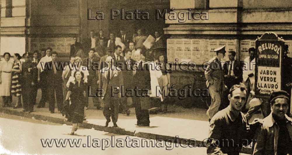
{"label": "long-haired woman standing at right edge of the crowd", "polygon": [[[164,86],[167,86],[167,88],[169,89],[170,88],[170,74],[169,73],[166,73],[166,69],[165,69],[165,64],[167,62],[166,60],[166,57],[164,54],[158,54],[159,55],[159,62],[163,62],[163,66],[161,68],[161,71],[162,71],[162,76],[158,79],[158,83],[159,83],[159,86],[161,88],[161,90],[163,89]],[[163,102],[162,102],[162,105],[161,105],[161,111],[162,113],[166,112],[167,111],[167,100],[164,96],[163,97]]]}

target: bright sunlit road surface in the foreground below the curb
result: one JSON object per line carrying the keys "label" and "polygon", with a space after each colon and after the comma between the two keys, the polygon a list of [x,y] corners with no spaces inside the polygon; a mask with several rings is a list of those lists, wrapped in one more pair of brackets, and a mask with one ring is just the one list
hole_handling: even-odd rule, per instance
{"label": "bright sunlit road surface in the foreground below the curb", "polygon": [[[126,136],[126,135],[117,135],[111,134],[103,131],[96,131],[92,129],[83,129],[79,128],[75,135],[70,135],[71,126],[54,124],[46,121],[39,121],[35,119],[25,119],[20,116],[13,116],[7,114],[0,114],[0,154],[107,154],[107,155],[129,155],[129,154],[197,154],[204,155],[206,154],[205,147],[175,147],[175,144],[163,144],[164,147],[142,147],[142,138],[135,136]],[[4,117],[4,118],[3,118]],[[12,118],[12,119],[7,119]],[[100,147],[87,147],[87,140],[90,139],[88,136],[91,136],[90,143],[92,144],[93,139],[97,138],[101,141],[102,139],[109,139],[112,142],[112,139],[128,139],[133,140],[134,138],[138,140],[138,145],[140,147],[127,147],[126,143],[124,147],[117,147],[114,143],[112,145],[106,145],[107,142],[104,140],[104,150],[102,150],[102,144]],[[114,136],[114,138],[112,138]],[[52,147],[43,147],[41,139],[68,139],[67,145],[65,147],[57,147],[55,143],[52,143]],[[70,147],[69,140],[81,139],[80,147]],[[157,143],[154,140],[155,144]],[[83,144],[86,144],[86,147],[83,147]],[[112,144],[112,143],[110,143]],[[134,146],[133,143],[129,143],[130,146]],[[156,144],[157,145],[157,144]],[[73,145],[72,145],[73,146]],[[108,147],[106,147],[108,146]],[[166,150],[168,147],[171,150]]]}

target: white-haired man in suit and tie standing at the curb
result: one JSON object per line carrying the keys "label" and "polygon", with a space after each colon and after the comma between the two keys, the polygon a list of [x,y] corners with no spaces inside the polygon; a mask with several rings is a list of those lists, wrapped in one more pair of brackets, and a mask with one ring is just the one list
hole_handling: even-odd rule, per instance
{"label": "white-haired man in suit and tie standing at the curb", "polygon": [[[105,107],[103,108],[103,115],[107,119],[105,123],[105,127],[108,126],[110,120],[110,117],[112,117],[112,122],[114,124],[114,127],[117,126],[118,121],[118,115],[119,115],[119,104],[120,104],[120,98],[121,98],[121,85],[123,82],[123,75],[121,70],[117,70],[114,66],[114,70],[111,69],[112,65],[115,65],[115,63],[111,62],[112,57],[109,56],[106,59],[106,62],[109,62],[109,66],[105,66],[108,68],[107,71],[102,73],[102,70],[100,70],[100,79],[99,79],[99,87],[102,87],[104,90],[104,93],[101,96],[102,101],[105,104]],[[116,92],[115,94],[113,94]],[[113,94],[113,96],[112,96]]]}

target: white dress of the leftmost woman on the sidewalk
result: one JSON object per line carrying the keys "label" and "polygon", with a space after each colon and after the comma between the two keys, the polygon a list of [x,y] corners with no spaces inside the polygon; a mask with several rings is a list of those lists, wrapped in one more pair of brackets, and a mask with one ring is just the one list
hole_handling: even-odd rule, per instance
{"label": "white dress of the leftmost woman on the sidewalk", "polygon": [[1,84],[0,84],[0,96],[10,96],[11,91],[11,70],[13,67],[13,62],[11,61],[1,61],[0,71],[1,71]]}

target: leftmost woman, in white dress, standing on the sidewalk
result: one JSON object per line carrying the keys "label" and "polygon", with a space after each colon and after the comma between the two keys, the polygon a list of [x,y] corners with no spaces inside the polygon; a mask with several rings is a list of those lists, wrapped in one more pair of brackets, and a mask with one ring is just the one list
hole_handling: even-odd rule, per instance
{"label": "leftmost woman, in white dress, standing on the sidewalk", "polygon": [[4,53],[3,57],[4,60],[0,62],[0,96],[2,96],[3,100],[2,106],[7,107],[12,102],[10,88],[13,62],[9,61],[11,57],[10,53]]}

